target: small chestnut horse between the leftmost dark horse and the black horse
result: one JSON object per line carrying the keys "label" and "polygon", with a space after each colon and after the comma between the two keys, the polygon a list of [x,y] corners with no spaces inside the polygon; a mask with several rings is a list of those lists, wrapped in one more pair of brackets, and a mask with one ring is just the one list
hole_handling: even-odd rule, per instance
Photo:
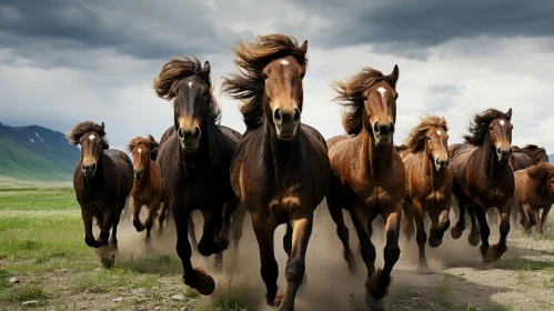
{"label": "small chestnut horse between the leftmost dark horse and the black horse", "polygon": [[[169,197],[155,163],[159,149],[160,144],[152,136],[148,138],[137,137],[128,143],[128,150],[133,156],[134,182],[131,191],[133,225],[138,232],[147,229],[147,239],[150,239],[150,231],[155,218],[158,218],[160,230],[162,230],[169,210]],[[148,205],[149,209],[145,223],[140,220],[142,205]]]}

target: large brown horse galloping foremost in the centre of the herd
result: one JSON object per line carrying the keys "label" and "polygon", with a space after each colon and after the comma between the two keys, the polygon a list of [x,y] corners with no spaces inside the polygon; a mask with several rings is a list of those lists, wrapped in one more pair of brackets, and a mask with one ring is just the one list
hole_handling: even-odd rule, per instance
{"label": "large brown horse galloping foremost in the centre of the herd", "polygon": [[[308,41],[299,46],[295,38],[280,33],[258,36],[249,44],[239,41],[233,52],[239,72],[224,78],[222,90],[243,100],[240,112],[246,131],[231,164],[231,183],[251,217],[266,302],[294,310],[313,213],[330,178],[325,140],[301,123]],[[278,291],[273,249],[274,230],[283,223],[289,255],[284,294]]]}

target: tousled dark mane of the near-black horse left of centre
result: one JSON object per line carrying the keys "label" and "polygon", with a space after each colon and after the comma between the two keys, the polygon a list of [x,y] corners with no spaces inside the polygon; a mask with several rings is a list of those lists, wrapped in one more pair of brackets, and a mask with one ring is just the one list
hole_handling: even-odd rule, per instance
{"label": "tousled dark mane of the near-black horse left of centre", "polygon": [[210,70],[202,68],[200,60],[194,56],[184,56],[181,59],[171,59],[163,64],[162,70],[154,78],[153,88],[159,98],[172,100],[175,97],[177,84],[190,76],[198,76],[210,86],[210,109],[208,119],[216,123],[221,119],[221,109],[213,96],[213,84]]}

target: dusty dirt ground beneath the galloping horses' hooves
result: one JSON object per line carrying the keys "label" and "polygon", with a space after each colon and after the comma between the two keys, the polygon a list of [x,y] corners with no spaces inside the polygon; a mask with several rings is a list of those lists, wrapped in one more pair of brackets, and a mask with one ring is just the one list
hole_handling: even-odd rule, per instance
{"label": "dusty dirt ground beneath the galloping horses' hooves", "polygon": [[[322,204],[315,217],[315,225],[306,255],[306,278],[296,298],[296,310],[367,310],[364,303],[365,268],[357,258],[360,272],[351,275],[342,258],[340,241],[335,234],[326,207]],[[197,220],[200,233],[201,221]],[[429,227],[427,227],[429,229]],[[118,264],[131,257],[171,258],[168,264],[179,263],[174,252],[174,232],[167,228],[163,235],[154,235],[145,245],[143,235],[134,232],[130,224],[120,229]],[[466,232],[467,233],[467,232]],[[494,231],[493,231],[494,233]],[[285,252],[282,248],[284,228],[275,232],[275,254],[280,264],[280,289],[285,288]],[[351,229],[353,249],[357,248],[355,231]],[[377,249],[376,267],[382,267],[382,234],[375,234]],[[551,310],[554,309],[554,241],[523,237],[513,229],[508,251],[494,264],[484,265],[477,248],[467,243],[464,234],[452,240],[446,232],[437,249],[427,247],[427,259],[434,271],[431,274],[416,272],[417,248],[415,241],[401,238],[401,260],[393,271],[393,283],[387,297],[387,310]],[[200,238],[200,234],[198,235]],[[492,237],[495,241],[496,235]],[[1,262],[0,262],[1,264]],[[193,264],[212,271],[213,258],[193,255]],[[211,297],[199,297],[188,290],[181,281],[179,265],[174,273],[155,273],[145,288],[120,287],[110,292],[75,292],[67,283],[81,270],[14,275],[21,283],[46,284],[50,299],[44,310],[272,310],[264,303],[265,287],[259,273],[259,251],[246,218],[244,235],[239,250],[232,249],[223,255],[223,273],[212,274],[216,291]],[[103,273],[94,268],[87,273]],[[140,273],[137,278],[140,278]],[[140,284],[140,283],[139,283]],[[172,299],[181,294],[182,300]],[[120,298],[120,301],[114,301]],[[233,304],[236,303],[236,304]],[[215,307],[214,307],[215,305]],[[240,307],[233,307],[240,305]],[[18,309],[3,304],[6,310]],[[0,303],[0,309],[2,304]]]}

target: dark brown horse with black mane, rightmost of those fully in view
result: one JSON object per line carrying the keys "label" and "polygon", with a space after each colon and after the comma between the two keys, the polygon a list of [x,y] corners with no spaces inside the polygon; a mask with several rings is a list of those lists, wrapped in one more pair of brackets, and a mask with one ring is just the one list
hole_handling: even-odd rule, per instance
{"label": "dark brown horse with black mane, rightmost of those fully in view", "polygon": [[[479,244],[484,262],[497,261],[507,250],[506,237],[510,232],[510,213],[514,197],[514,171],[510,165],[512,149],[512,109],[503,113],[488,109],[475,114],[470,124],[465,143],[449,147],[454,179],[453,193],[459,201],[459,220],[451,234],[459,239],[465,229],[465,210],[472,221],[469,241]],[[496,207],[501,215],[500,241],[490,247],[491,230],[486,211]],[[477,228],[477,223],[480,228]]]}

